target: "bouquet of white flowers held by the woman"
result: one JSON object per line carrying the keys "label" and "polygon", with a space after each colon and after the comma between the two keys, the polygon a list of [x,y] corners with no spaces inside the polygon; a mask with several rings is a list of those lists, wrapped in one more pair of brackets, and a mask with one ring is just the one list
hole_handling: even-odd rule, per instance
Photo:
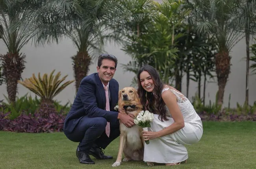
{"label": "bouquet of white flowers held by the woman", "polygon": [[[141,111],[139,112],[139,114],[137,115],[137,117],[135,117],[134,119],[134,123],[143,127],[144,131],[148,131],[148,127],[150,126],[150,122],[152,122],[154,120],[154,114],[150,113],[149,111]],[[149,140],[145,141],[146,144],[149,144]]]}

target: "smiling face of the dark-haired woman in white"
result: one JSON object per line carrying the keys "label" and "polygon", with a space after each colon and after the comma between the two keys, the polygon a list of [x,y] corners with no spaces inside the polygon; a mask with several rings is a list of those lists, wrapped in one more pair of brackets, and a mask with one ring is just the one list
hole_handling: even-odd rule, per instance
{"label": "smiling face of the dark-haired woman in white", "polygon": [[145,91],[147,91],[147,92],[153,91],[154,82],[153,82],[152,77],[150,76],[150,74],[147,71],[141,72],[140,82],[141,82],[141,86],[143,87],[143,89],[145,89]]}

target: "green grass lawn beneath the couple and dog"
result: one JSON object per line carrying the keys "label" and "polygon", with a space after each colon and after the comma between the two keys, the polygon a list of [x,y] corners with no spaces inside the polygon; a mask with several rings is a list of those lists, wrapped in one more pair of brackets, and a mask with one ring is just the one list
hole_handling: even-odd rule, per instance
{"label": "green grass lawn beneath the couple and dog", "polygon": [[[256,167],[256,122],[204,122],[200,142],[188,145],[187,164],[157,165],[150,168],[186,169],[249,169]],[[111,160],[95,160],[95,165],[80,164],[76,158],[77,143],[63,133],[10,133],[0,132],[1,169],[113,169],[117,158],[119,138],[106,149]],[[152,152],[154,153],[154,152]],[[148,168],[144,162],[122,162],[121,169]]]}

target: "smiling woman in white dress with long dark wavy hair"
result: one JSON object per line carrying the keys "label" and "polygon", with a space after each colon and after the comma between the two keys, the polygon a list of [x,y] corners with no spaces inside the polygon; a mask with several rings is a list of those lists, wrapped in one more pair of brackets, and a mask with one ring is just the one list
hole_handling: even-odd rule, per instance
{"label": "smiling woman in white dress with long dark wavy hair", "polygon": [[143,131],[144,161],[148,165],[179,165],[187,160],[185,144],[194,144],[203,133],[202,121],[191,102],[178,90],[164,85],[156,69],[146,65],[137,74],[138,93],[145,109],[154,113],[149,131]]}

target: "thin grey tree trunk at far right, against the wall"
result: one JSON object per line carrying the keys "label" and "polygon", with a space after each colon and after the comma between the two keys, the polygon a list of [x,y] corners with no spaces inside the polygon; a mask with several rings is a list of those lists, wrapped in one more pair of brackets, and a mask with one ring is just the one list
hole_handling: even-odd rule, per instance
{"label": "thin grey tree trunk at far right, against the wall", "polygon": [[245,29],[246,42],[246,84],[245,84],[245,104],[249,104],[249,64],[250,64],[250,33]]}

